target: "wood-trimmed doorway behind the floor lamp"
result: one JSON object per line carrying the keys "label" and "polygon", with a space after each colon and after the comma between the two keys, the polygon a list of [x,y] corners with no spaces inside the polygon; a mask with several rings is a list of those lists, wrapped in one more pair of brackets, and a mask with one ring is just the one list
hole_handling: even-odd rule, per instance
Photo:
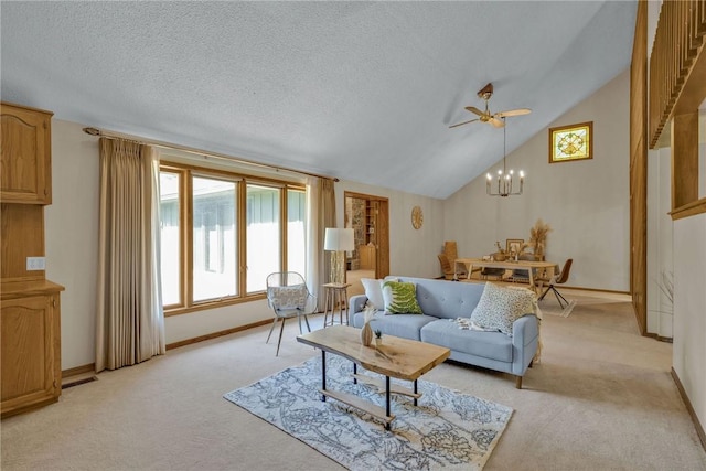
{"label": "wood-trimmed doorway behind the floor lamp", "polygon": [[361,278],[389,275],[389,202],[386,197],[344,192],[345,227],[355,249],[347,254],[346,280],[362,292]]}

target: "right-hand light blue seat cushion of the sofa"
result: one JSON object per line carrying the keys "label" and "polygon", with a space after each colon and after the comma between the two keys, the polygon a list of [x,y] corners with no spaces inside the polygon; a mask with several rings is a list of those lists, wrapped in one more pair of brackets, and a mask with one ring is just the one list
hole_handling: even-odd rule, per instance
{"label": "right-hand light blue seat cushion of the sofa", "polygon": [[501,332],[460,329],[451,319],[439,319],[421,328],[420,340],[454,352],[512,363],[512,339]]}

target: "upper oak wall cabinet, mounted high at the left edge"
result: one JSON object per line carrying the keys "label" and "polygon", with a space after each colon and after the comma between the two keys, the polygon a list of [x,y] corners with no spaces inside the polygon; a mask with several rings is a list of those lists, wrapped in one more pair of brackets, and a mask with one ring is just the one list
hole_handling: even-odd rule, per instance
{"label": "upper oak wall cabinet, mounted high at the left edge", "polygon": [[52,113],[1,104],[0,199],[3,203],[52,203]]}

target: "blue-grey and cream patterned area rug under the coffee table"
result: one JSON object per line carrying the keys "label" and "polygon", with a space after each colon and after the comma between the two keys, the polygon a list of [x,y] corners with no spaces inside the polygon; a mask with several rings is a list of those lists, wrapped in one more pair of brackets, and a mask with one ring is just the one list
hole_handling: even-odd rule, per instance
{"label": "blue-grey and cream patterned area rug under the coffee table", "polygon": [[[327,388],[384,407],[384,394],[377,388],[353,384],[352,365],[328,355]],[[419,379],[422,396],[417,407],[409,397],[392,396],[395,420],[386,431],[381,421],[361,410],[331,398],[322,402],[320,387],[321,357],[317,356],[223,397],[351,470],[481,470],[513,413]]]}

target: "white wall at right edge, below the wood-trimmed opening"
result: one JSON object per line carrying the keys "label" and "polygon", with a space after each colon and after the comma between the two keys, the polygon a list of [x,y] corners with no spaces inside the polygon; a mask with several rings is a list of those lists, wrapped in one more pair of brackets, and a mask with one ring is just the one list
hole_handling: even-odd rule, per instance
{"label": "white wall at right edge, below the wood-trimmed opening", "polygon": [[673,367],[706,427],[706,214],[674,222]]}

